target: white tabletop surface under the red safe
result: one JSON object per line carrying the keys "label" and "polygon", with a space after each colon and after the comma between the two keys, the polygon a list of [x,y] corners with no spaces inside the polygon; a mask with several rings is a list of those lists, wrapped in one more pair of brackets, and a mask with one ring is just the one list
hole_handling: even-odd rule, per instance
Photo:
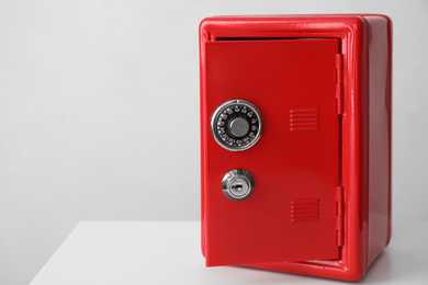
{"label": "white tabletop surface under the red safe", "polygon": [[[428,284],[428,223],[395,223],[361,284]],[[31,285],[331,284],[241,266],[205,267],[196,221],[82,221]]]}

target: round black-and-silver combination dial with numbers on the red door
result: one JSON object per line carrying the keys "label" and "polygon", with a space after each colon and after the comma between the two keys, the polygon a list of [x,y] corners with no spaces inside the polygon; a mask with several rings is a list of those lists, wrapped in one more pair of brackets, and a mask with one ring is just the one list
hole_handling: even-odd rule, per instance
{"label": "round black-and-silver combination dial with numbers on the red door", "polygon": [[211,133],[215,141],[232,151],[252,147],[260,138],[261,127],[260,112],[244,100],[223,103],[211,117]]}

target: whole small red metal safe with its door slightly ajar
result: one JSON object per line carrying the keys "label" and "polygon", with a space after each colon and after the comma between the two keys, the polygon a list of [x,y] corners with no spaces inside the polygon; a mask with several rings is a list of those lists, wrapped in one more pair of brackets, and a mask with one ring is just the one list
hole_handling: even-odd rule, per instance
{"label": "whole small red metal safe with its door slightly ajar", "polygon": [[207,266],[354,281],[391,238],[391,21],[200,25]]}

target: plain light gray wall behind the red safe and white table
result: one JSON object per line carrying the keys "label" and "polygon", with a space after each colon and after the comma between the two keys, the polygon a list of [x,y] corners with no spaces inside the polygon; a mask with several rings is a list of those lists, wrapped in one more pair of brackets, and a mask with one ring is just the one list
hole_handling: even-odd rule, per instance
{"label": "plain light gray wall behind the red safe and white table", "polygon": [[0,1],[0,284],[82,219],[199,219],[203,18],[360,12],[394,21],[394,218],[426,218],[428,1]]}

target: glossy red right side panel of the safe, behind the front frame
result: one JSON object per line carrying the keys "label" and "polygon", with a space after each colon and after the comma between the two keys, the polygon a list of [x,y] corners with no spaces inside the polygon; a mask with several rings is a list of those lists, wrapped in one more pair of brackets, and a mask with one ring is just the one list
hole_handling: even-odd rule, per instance
{"label": "glossy red right side panel of the safe, behind the front frame", "polygon": [[369,68],[369,249],[371,264],[391,238],[391,23],[370,23]]}

